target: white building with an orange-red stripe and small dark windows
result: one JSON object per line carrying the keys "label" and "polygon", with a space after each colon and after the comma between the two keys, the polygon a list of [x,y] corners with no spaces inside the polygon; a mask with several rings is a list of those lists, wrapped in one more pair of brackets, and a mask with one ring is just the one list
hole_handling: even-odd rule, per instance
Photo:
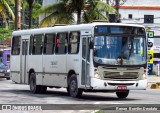
{"label": "white building with an orange-red stripe and small dark windows", "polygon": [[127,0],[119,11],[122,22],[142,24],[154,31],[155,37],[160,37],[160,1]]}

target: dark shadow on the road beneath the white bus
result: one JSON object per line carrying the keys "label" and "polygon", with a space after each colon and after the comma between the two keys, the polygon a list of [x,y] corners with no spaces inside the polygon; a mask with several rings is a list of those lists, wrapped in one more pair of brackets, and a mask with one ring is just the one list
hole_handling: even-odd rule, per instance
{"label": "dark shadow on the road beneath the white bus", "polygon": [[[57,89],[55,89],[57,90]],[[36,98],[48,98],[48,97],[65,97],[71,100],[77,101],[133,101],[138,99],[126,98],[126,99],[119,99],[117,98],[116,94],[112,93],[84,93],[81,98],[72,98],[69,96],[67,91],[54,91],[54,89],[48,90],[46,93],[43,94],[32,94],[29,90],[21,90],[21,89],[8,89],[8,90],[0,90],[0,93],[10,93],[16,94],[20,96],[31,96]],[[103,94],[103,95],[102,95]],[[105,95],[104,95],[105,94]],[[108,94],[108,95],[107,95]]]}

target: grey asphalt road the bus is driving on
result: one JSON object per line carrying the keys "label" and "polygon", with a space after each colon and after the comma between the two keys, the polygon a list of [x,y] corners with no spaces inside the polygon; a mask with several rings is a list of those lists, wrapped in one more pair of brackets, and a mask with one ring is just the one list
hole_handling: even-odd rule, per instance
{"label": "grey asphalt road the bus is driving on", "polygon": [[[41,104],[44,108],[48,106],[52,108],[52,110],[58,109],[58,111],[54,111],[57,113],[63,113],[64,110],[67,110],[67,112],[69,113],[90,113],[94,112],[96,109],[118,109],[118,111],[114,112],[120,113],[124,112],[125,109],[123,108],[125,108],[128,105],[131,105],[131,107],[133,106],[134,108],[142,108],[144,107],[143,104],[160,104],[159,97],[160,89],[130,91],[129,96],[126,99],[118,99],[115,93],[83,93],[83,96],[81,98],[72,98],[67,94],[65,88],[48,88],[45,94],[32,94],[29,91],[28,85],[15,84],[11,80],[0,79],[0,104]],[[61,104],[61,106],[59,106],[59,104]],[[134,106],[134,104],[141,105]],[[27,111],[16,111],[16,113],[17,112],[28,113]],[[37,113],[41,112],[43,113],[44,111],[38,111]],[[49,110],[47,110],[47,112],[53,113],[53,111]],[[102,113],[103,112],[104,111],[102,111]],[[107,113],[110,112],[107,111]]]}

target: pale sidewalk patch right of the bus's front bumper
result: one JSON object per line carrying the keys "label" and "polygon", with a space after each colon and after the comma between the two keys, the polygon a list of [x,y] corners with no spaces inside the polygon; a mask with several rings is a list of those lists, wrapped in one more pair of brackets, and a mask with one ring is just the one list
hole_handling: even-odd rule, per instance
{"label": "pale sidewalk patch right of the bus's front bumper", "polygon": [[157,82],[160,82],[160,76],[147,75],[147,80],[148,80],[148,89],[150,89],[152,84],[156,84]]}

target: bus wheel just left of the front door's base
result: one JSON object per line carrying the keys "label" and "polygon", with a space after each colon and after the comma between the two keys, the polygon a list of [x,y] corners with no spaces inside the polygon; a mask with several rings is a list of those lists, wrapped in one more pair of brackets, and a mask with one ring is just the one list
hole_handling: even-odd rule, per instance
{"label": "bus wheel just left of the front door's base", "polygon": [[72,75],[69,80],[69,94],[71,97],[81,97],[82,90],[78,88],[77,77]]}

